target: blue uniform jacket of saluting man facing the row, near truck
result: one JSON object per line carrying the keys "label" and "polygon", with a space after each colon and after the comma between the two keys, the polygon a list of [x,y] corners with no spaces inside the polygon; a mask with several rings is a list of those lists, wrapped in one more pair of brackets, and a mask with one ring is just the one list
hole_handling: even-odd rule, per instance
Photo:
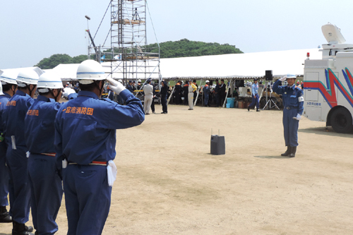
{"label": "blue uniform jacket of saluting man facing the row, near truck", "polygon": [[[303,114],[304,111],[304,98],[303,98],[303,91],[293,85],[289,87],[289,85],[282,85],[280,86],[281,81],[277,80],[273,84],[273,91],[276,92],[278,95],[282,94],[283,105],[285,107],[297,107],[298,114]],[[302,100],[299,102],[299,100]]]}

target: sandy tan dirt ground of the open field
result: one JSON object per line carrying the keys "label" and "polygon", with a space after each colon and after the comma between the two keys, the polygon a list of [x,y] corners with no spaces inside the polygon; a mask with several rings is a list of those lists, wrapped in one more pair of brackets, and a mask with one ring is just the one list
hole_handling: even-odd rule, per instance
{"label": "sandy tan dirt ground of the open field", "polygon": [[[288,158],[280,156],[281,111],[161,109],[117,131],[103,234],[352,234],[352,133],[304,118]],[[211,128],[225,135],[225,155],[210,155]],[[0,234],[11,234],[11,224],[0,224]]]}

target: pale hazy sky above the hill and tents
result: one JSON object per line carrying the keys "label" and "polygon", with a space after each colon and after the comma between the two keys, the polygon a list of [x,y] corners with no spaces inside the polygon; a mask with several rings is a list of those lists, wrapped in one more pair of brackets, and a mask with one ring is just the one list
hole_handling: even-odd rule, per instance
{"label": "pale hazy sky above the hill and tents", "polygon": [[[0,69],[34,66],[52,54],[87,54],[85,15],[94,35],[108,5],[109,0],[1,0]],[[245,53],[311,49],[326,43],[321,26],[330,22],[353,44],[352,0],[148,0],[148,7],[158,42],[228,43]],[[96,44],[109,32],[109,11]]]}

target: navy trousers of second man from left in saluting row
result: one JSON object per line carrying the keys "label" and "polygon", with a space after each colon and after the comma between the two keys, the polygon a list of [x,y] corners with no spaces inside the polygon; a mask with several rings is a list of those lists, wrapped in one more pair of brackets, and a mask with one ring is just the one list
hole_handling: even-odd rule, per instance
{"label": "navy trousers of second man from left in saluting row", "polygon": [[17,150],[13,150],[11,145],[7,149],[6,160],[10,181],[8,183],[8,191],[10,193],[10,215],[13,221],[19,224],[28,222],[30,215],[30,186],[28,183],[26,157],[27,149],[22,146],[16,146]]}

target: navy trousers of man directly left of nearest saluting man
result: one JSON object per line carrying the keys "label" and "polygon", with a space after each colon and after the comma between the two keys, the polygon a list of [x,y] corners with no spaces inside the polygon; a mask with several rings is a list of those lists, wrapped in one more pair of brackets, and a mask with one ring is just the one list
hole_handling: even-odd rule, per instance
{"label": "navy trousers of man directly left of nearest saluting man", "polygon": [[55,219],[63,196],[55,157],[31,153],[28,159],[28,174],[33,225],[38,234],[54,234],[58,231]]}

